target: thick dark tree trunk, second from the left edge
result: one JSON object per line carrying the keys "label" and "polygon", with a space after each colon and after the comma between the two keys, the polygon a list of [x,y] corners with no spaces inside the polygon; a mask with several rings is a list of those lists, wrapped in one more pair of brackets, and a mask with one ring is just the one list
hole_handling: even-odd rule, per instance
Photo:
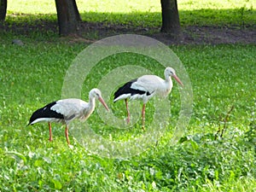
{"label": "thick dark tree trunk, second from the left edge", "polygon": [[78,31],[79,9],[75,0],[55,0],[60,35],[67,36]]}

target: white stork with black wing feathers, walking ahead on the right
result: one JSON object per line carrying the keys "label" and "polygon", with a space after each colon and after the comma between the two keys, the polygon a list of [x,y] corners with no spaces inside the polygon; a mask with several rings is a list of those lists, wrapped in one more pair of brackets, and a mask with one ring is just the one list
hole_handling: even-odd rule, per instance
{"label": "white stork with black wing feathers, walking ahead on the right", "polygon": [[183,83],[178,79],[175,70],[172,67],[166,67],[165,80],[156,75],[143,75],[138,79],[133,79],[119,88],[114,93],[113,102],[125,99],[125,106],[127,111],[127,123],[130,122],[130,111],[128,108],[128,98],[131,100],[143,100],[143,129],[145,124],[145,108],[148,100],[154,96],[168,96],[172,90],[172,78],[177,80],[177,83],[183,86]]}

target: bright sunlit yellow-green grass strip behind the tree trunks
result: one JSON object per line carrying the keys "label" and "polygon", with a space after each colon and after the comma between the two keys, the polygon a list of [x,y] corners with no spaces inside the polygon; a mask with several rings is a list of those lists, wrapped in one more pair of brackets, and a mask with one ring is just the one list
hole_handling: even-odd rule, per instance
{"label": "bright sunlit yellow-green grass strip behind the tree trunks", "polygon": [[[154,0],[140,1],[129,0],[113,0],[92,2],[89,0],[77,0],[76,1],[80,12],[102,12],[102,13],[132,13],[132,12],[160,12],[160,2]],[[212,1],[206,0],[191,1],[182,0],[178,1],[178,9],[181,10],[197,10],[197,9],[240,9],[245,7],[246,9],[254,9],[255,2],[252,0],[230,0],[230,1]],[[22,5],[22,6],[20,6]],[[10,2],[8,4],[10,13],[25,13],[25,14],[54,14],[55,2],[49,2],[46,0],[35,1],[26,0],[25,3],[22,0]]]}

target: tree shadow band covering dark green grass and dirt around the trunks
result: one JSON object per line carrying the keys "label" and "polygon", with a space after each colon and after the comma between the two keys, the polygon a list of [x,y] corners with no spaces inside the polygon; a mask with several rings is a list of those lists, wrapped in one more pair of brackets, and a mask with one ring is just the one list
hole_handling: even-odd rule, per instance
{"label": "tree shadow band covering dark green grass and dirt around the trunks", "polygon": [[[160,13],[80,13],[79,40],[91,42],[112,35],[133,33],[157,38],[165,44],[255,44],[253,9],[201,9],[179,11],[183,33],[179,38],[161,33]],[[47,39],[58,37],[57,15],[7,15],[2,34]],[[0,35],[1,35],[0,33]],[[254,38],[253,38],[254,37]]]}

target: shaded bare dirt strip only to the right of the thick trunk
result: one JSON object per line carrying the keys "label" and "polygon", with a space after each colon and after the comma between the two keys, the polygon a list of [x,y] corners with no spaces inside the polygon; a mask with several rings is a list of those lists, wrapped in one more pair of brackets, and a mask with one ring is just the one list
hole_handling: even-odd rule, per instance
{"label": "shaded bare dirt strip only to the right of the thick trunk", "polygon": [[256,44],[255,26],[186,26],[182,34],[174,37],[160,32],[160,28],[143,28],[127,25],[83,23],[79,32],[96,32],[100,38],[117,34],[140,34],[156,38],[164,44]]}

